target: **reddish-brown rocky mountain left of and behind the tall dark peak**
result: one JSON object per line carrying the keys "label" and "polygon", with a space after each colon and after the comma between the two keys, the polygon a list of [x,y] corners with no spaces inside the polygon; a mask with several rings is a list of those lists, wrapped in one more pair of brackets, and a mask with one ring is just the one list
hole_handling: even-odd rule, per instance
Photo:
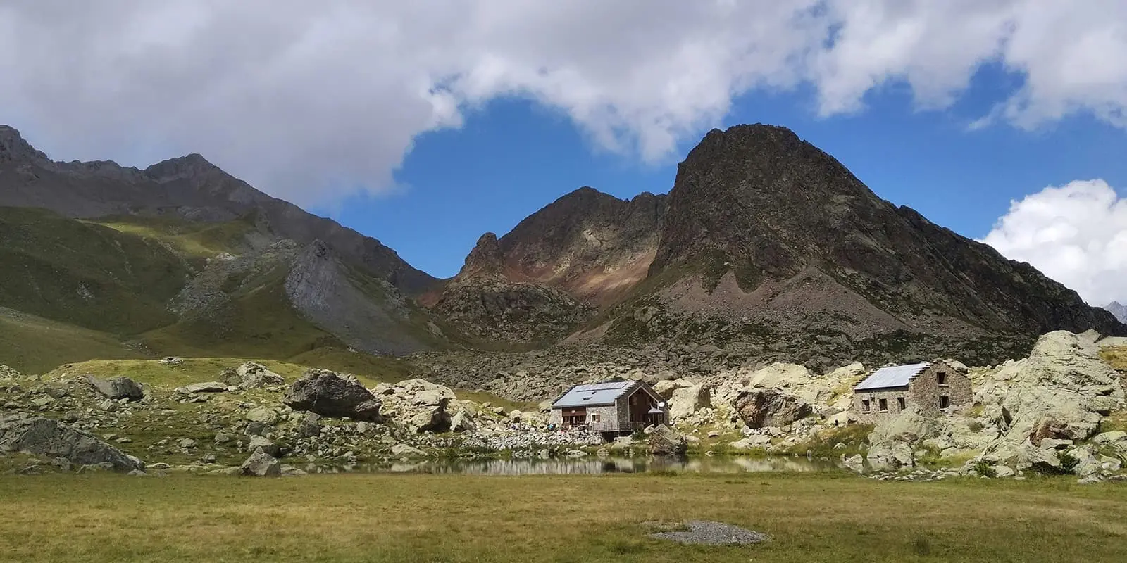
{"label": "reddish-brown rocky mountain left of and behind the tall dark peak", "polygon": [[577,189],[499,240],[482,235],[434,311],[479,339],[559,340],[645,279],[664,213],[665,196]]}

